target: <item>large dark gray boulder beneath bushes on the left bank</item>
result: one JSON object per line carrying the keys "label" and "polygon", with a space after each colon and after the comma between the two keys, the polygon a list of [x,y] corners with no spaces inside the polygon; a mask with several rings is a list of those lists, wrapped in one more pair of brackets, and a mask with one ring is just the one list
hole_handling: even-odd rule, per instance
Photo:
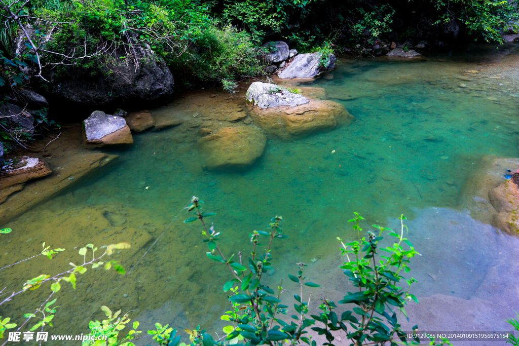
{"label": "large dark gray boulder beneath bushes on the left bank", "polygon": [[[14,41],[18,54],[28,51],[23,33]],[[54,70],[48,71],[45,75],[49,79],[46,84],[48,97],[57,99],[58,102],[53,102],[57,106],[65,101],[86,107],[136,105],[171,98],[174,81],[166,62],[149,45],[133,45],[133,48],[138,66],[121,59],[127,56],[127,51],[120,47],[97,57],[102,71],[95,76],[91,71],[74,65],[67,66],[65,77],[56,75]],[[26,73],[34,76],[38,67],[31,66]]]}

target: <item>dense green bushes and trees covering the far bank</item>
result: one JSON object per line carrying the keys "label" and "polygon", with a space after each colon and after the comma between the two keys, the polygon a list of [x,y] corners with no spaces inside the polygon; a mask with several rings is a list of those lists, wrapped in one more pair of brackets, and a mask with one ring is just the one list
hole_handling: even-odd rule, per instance
{"label": "dense green bushes and trees covering the far bank", "polygon": [[[151,50],[172,71],[177,91],[233,90],[236,80],[265,73],[266,41],[359,54],[380,41],[501,41],[518,14],[501,0],[10,0],[0,18],[0,89],[13,97],[29,82],[45,89],[71,75],[109,77],[117,66],[145,63],[142,52]],[[13,140],[20,129],[3,120],[7,147],[32,138],[24,132],[26,139]]]}

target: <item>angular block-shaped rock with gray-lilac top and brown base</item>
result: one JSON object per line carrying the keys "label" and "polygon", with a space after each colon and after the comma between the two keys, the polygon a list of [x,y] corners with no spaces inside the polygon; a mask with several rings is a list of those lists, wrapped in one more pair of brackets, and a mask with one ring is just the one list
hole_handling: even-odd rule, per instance
{"label": "angular block-shaped rock with gray-lilac top and brown base", "polygon": [[107,145],[133,144],[130,128],[122,117],[94,110],[83,123],[89,149]]}

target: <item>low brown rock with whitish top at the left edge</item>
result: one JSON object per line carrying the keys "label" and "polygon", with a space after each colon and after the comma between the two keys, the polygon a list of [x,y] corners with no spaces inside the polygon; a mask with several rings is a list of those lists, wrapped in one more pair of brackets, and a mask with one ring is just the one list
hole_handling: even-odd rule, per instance
{"label": "low brown rock with whitish top at the left edge", "polygon": [[23,184],[33,179],[49,175],[52,171],[48,165],[35,157],[23,156],[15,159],[15,167],[0,175],[0,189],[13,185]]}

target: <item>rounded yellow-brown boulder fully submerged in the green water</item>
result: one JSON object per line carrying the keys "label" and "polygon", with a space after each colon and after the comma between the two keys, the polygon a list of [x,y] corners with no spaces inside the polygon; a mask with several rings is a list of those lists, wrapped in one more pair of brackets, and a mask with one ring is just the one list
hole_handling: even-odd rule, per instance
{"label": "rounded yellow-brown boulder fully submerged in the green water", "polygon": [[226,127],[201,137],[197,146],[210,170],[244,168],[263,154],[267,138],[254,126]]}

